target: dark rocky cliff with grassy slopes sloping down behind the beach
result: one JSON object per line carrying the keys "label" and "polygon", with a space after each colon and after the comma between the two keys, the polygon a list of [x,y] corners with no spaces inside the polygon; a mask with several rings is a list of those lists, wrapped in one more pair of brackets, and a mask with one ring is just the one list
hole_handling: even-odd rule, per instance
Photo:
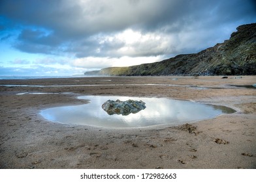
{"label": "dark rocky cliff with grassy slopes sloping down behind the beach", "polygon": [[229,40],[199,53],[85,75],[256,75],[256,23],[241,25]]}

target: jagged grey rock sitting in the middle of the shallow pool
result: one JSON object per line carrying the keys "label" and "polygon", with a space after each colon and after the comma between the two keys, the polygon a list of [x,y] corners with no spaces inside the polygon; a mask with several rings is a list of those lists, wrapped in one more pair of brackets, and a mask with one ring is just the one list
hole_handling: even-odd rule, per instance
{"label": "jagged grey rock sitting in the middle of the shallow pool", "polygon": [[103,103],[102,108],[105,110],[109,115],[112,114],[121,114],[123,116],[127,116],[131,113],[135,114],[142,109],[146,108],[146,103],[144,101],[134,101],[134,100],[127,100],[127,101],[120,101],[119,99],[116,101],[108,100]]}

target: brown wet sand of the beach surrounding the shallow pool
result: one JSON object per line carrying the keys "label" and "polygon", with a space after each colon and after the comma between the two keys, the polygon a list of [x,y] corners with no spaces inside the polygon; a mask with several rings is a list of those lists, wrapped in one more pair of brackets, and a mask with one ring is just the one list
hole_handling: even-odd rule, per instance
{"label": "brown wet sand of the beach surrounding the shallow pool", "polygon": [[[256,89],[247,87],[254,83],[256,76],[1,80],[44,87],[0,86],[0,168],[256,168]],[[130,129],[63,125],[39,114],[87,103],[77,99],[86,95],[187,99],[237,112]]]}

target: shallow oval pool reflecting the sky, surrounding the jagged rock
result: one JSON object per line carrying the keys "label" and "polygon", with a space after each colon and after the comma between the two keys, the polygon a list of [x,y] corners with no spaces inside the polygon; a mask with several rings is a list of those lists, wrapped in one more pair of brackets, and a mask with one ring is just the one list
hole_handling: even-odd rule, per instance
{"label": "shallow oval pool reflecting the sky, surrounding the jagged rock", "polygon": [[[180,125],[199,120],[214,118],[220,114],[229,114],[236,110],[229,107],[205,105],[192,101],[167,98],[133,98],[123,96],[81,96],[88,99],[84,105],[55,107],[41,110],[40,114],[52,122],[65,124],[91,125],[97,127],[147,127],[152,125]],[[109,115],[102,109],[108,99],[121,101],[142,100],[146,108],[123,116]]]}

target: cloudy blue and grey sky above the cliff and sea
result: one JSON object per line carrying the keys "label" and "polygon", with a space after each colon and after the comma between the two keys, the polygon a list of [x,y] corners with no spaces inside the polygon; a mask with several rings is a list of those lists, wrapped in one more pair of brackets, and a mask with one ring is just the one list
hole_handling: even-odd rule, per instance
{"label": "cloudy blue and grey sky above the cliff and sea", "polygon": [[254,0],[0,0],[0,75],[157,62],[212,47],[255,22]]}

